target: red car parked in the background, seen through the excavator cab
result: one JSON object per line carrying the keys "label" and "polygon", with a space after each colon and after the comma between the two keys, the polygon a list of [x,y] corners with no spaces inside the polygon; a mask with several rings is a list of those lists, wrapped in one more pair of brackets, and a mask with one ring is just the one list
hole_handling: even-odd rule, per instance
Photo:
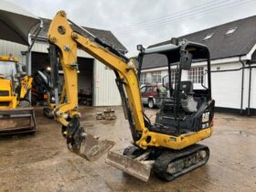
{"label": "red car parked in the background, seen through the excavator cab", "polygon": [[161,97],[165,97],[167,89],[162,84],[149,84],[141,87],[142,101],[150,109],[159,106]]}

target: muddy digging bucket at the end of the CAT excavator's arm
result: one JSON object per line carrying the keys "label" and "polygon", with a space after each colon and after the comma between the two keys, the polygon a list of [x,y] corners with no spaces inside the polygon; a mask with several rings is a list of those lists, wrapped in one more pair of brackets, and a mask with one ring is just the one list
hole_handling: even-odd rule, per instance
{"label": "muddy digging bucket at the end of the CAT excavator's arm", "polygon": [[80,145],[80,155],[88,161],[96,161],[108,152],[115,142],[103,140],[99,141],[91,134],[86,134],[85,139]]}

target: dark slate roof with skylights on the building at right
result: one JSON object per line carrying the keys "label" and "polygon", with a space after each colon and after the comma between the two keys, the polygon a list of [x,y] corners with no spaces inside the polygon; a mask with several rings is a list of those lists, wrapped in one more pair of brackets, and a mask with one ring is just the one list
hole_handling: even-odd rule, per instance
{"label": "dark slate roof with skylights on the building at right", "polygon": [[[226,35],[227,31],[232,27],[237,27],[235,32],[230,35]],[[212,33],[212,37],[204,40],[208,34]],[[208,46],[211,59],[225,59],[243,56],[248,54],[256,43],[256,16],[232,21],[217,27],[210,27],[178,38],[180,40],[186,38],[189,41],[195,41]],[[171,40],[167,40],[165,42],[149,46],[149,48],[170,43]],[[157,64],[155,67],[163,67],[160,65],[161,64]],[[152,68],[152,65],[150,65],[150,67]],[[144,66],[144,69],[147,69],[147,67]]]}

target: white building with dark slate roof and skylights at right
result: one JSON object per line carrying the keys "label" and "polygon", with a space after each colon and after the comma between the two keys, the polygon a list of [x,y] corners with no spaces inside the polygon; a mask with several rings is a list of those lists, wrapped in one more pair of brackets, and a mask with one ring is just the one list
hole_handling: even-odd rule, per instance
{"label": "white building with dark slate roof and skylights at right", "polygon": [[[256,16],[211,27],[179,39],[208,46],[211,57],[212,97],[216,110],[256,114]],[[170,44],[170,40],[149,48]],[[193,67],[194,66],[194,67]],[[200,86],[206,70],[205,62],[192,65],[188,78]],[[161,82],[167,67],[161,60],[143,66],[141,83],[151,76],[153,83]]]}

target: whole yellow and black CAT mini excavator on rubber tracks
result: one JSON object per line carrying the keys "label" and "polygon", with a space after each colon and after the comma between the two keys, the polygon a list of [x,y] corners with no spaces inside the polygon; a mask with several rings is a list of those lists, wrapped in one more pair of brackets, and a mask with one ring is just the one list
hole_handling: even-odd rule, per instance
{"label": "whole yellow and black CAT mini excavator on rubber tracks", "polygon": [[[187,40],[178,41],[176,38],[172,44],[158,48],[145,49],[138,46],[140,53],[137,70],[133,59],[127,59],[88,31],[88,37],[81,36],[70,25],[75,24],[64,11],[59,11],[48,29],[50,62],[56,66],[55,74],[58,74],[60,63],[65,80],[54,115],[62,124],[62,133],[67,139],[69,150],[93,161],[109,151],[114,144],[107,140],[100,141],[85,133],[80,126],[77,49],[81,48],[114,71],[123,101],[124,116],[130,124],[133,146],[127,147],[123,155],[109,151],[106,160],[109,165],[144,181],[148,180],[151,170],[170,181],[205,165],[209,149],[197,143],[213,132],[214,100],[211,98],[208,48]],[[163,98],[155,123],[151,123],[144,113],[138,81],[144,61],[150,61],[152,55],[164,57],[169,72],[169,80],[165,83],[169,93]],[[186,80],[183,75],[189,76],[188,70],[198,60],[207,63],[206,84],[202,84],[200,89],[194,89],[192,81]],[[54,73],[54,69],[52,71]],[[172,75],[175,78],[171,78]],[[57,86],[58,83],[55,84]]]}

